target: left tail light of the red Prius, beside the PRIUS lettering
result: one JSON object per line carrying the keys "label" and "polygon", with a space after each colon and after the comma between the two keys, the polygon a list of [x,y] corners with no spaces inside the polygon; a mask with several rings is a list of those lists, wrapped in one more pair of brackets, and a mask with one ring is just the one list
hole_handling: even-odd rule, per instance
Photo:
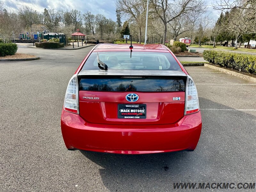
{"label": "left tail light of the red Prius, beside the PRIUS lettering", "polygon": [[71,113],[79,113],[78,105],[78,79],[77,74],[71,77],[68,83],[64,100],[64,110]]}

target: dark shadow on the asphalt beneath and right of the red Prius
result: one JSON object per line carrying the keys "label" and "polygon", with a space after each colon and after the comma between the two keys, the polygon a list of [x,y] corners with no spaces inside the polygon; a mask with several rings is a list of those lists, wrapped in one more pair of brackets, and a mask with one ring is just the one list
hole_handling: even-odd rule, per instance
{"label": "dark shadow on the asphalt beneath and right of the red Prius", "polygon": [[[205,98],[199,101],[201,109],[232,109]],[[110,191],[172,191],[176,182],[229,182],[239,177],[253,180],[256,161],[250,154],[256,150],[255,116],[234,110],[201,112],[202,133],[194,152],[147,155],[80,152],[102,167],[100,176]],[[250,132],[250,137],[246,132]]]}

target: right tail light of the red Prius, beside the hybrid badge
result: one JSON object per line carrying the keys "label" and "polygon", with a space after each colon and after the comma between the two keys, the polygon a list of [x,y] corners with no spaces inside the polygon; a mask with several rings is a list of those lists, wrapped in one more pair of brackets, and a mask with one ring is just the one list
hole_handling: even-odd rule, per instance
{"label": "right tail light of the red Prius, beside the hybrid badge", "polygon": [[188,76],[186,83],[186,104],[185,104],[185,115],[196,113],[199,111],[199,100],[196,91],[196,85],[193,79]]}

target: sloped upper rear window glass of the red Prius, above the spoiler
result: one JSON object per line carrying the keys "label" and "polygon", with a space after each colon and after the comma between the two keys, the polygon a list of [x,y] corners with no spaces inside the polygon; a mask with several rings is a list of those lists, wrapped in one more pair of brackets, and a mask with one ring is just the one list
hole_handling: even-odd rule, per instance
{"label": "sloped upper rear window glass of the red Prius, above the spoiler", "polygon": [[177,61],[171,53],[164,52],[92,52],[86,60],[82,70],[99,69],[97,54],[108,69],[134,69],[134,70],[174,70],[181,71]]}

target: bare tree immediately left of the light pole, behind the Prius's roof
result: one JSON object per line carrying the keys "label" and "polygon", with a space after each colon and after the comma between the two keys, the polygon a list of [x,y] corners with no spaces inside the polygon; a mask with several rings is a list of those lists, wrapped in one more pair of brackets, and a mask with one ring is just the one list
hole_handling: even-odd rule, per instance
{"label": "bare tree immediately left of the light pole, behind the Prius's roof", "polygon": [[146,0],[117,0],[116,8],[127,17],[129,21],[135,22],[139,28],[139,43],[141,43],[142,27],[145,26],[147,1]]}

